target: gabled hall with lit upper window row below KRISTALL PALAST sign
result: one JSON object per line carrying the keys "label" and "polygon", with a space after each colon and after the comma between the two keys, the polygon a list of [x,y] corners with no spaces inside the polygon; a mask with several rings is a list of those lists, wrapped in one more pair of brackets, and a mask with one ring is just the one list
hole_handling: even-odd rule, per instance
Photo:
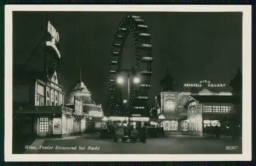
{"label": "gabled hall with lit upper window row below KRISTALL PALAST sign", "polygon": [[188,113],[188,133],[215,134],[216,127],[220,127],[222,134],[230,134],[229,124],[221,120],[232,114],[235,100],[236,96],[189,96],[183,105]]}

